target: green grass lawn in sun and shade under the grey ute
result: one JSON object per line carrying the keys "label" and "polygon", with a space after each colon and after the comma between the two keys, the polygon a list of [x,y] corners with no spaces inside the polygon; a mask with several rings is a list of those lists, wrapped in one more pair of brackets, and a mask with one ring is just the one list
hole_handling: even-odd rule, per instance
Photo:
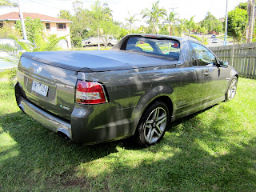
{"label": "green grass lawn in sun and shade under the grey ute", "polygon": [[146,149],[66,141],[22,114],[13,85],[0,80],[0,191],[256,191],[255,80]]}

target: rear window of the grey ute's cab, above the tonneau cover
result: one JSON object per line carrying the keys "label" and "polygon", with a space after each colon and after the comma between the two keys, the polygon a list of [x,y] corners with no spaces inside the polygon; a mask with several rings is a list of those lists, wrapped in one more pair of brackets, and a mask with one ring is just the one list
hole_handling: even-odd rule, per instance
{"label": "rear window of the grey ute's cab, above the tonneau cover", "polygon": [[178,61],[180,43],[174,39],[131,37],[126,44],[126,50],[174,58]]}

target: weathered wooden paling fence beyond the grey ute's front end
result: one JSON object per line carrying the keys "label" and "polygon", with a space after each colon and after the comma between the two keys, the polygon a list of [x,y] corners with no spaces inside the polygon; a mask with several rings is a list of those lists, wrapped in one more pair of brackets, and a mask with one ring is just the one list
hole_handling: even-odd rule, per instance
{"label": "weathered wooden paling fence beyond the grey ute's front end", "polygon": [[[219,59],[229,62],[230,66],[243,77],[256,78],[256,43],[233,46],[210,47]],[[234,57],[232,57],[234,51]]]}

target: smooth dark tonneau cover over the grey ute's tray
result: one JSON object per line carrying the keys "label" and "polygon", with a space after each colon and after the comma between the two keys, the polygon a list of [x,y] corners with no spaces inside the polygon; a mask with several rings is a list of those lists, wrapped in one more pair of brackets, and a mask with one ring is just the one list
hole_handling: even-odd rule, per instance
{"label": "smooth dark tonneau cover over the grey ute's tray", "polygon": [[66,70],[82,72],[129,70],[176,63],[168,58],[157,58],[122,50],[26,52],[22,57]]}

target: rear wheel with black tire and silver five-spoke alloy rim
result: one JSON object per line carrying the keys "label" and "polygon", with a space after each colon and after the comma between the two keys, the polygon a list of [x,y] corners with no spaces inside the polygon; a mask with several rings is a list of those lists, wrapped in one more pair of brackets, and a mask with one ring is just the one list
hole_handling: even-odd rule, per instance
{"label": "rear wheel with black tire and silver five-spoke alloy rim", "polygon": [[159,142],[169,126],[169,119],[166,103],[154,102],[142,114],[134,134],[135,141],[140,146],[152,146]]}

